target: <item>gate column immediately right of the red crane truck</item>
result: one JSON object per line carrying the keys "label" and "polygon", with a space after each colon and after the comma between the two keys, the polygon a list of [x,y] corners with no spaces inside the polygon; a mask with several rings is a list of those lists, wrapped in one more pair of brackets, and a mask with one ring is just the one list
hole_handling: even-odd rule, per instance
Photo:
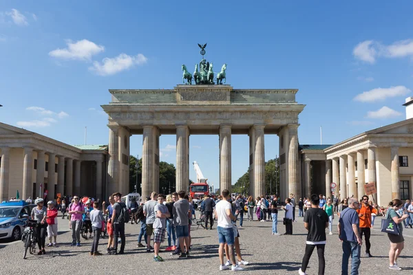
{"label": "gate column immediately right of the red crane truck", "polygon": [[220,190],[231,193],[231,126],[220,126]]}

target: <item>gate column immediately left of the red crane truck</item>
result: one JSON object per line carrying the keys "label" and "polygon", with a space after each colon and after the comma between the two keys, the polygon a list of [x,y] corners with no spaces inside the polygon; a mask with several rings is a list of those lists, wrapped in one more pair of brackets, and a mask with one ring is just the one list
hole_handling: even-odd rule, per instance
{"label": "gate column immediately left of the red crane truck", "polygon": [[188,192],[189,158],[188,158],[189,128],[187,125],[176,126],[176,192]]}

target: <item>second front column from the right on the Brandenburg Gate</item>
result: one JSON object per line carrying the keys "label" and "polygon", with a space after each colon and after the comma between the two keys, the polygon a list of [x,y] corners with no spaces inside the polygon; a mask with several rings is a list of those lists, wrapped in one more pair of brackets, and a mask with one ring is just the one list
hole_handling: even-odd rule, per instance
{"label": "second front column from the right on the Brandenburg Gate", "polygon": [[254,125],[254,197],[265,195],[264,125]]}

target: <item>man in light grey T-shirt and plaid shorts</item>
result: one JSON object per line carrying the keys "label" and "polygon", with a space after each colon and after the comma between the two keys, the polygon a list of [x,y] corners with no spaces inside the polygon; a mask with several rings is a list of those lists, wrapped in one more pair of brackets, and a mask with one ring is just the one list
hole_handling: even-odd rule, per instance
{"label": "man in light grey T-shirt and plaid shorts", "polygon": [[161,256],[159,256],[160,243],[165,240],[165,231],[167,228],[167,218],[171,217],[167,206],[163,203],[165,201],[165,195],[158,195],[158,203],[156,204],[155,221],[153,222],[153,261],[163,262]]}

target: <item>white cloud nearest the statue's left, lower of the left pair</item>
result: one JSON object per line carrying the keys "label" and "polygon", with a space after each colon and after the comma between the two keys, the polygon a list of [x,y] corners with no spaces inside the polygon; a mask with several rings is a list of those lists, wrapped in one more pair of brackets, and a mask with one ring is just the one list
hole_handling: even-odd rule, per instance
{"label": "white cloud nearest the statue's left, lower of the left pair", "polygon": [[111,74],[122,72],[125,69],[130,69],[135,65],[142,65],[145,63],[147,63],[147,58],[143,54],[137,54],[136,56],[119,54],[114,58],[103,58],[101,63],[94,61],[93,66],[89,67],[89,70],[100,76],[109,76]]}

